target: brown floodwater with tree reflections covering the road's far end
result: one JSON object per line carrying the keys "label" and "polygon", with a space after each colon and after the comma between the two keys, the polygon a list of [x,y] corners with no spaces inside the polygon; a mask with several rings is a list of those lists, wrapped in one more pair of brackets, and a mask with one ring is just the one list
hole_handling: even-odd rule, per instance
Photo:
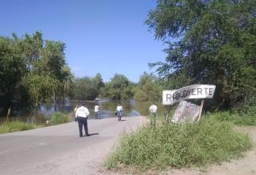
{"label": "brown floodwater with tree reflections covering the road's far end", "polygon": [[[115,117],[116,106],[118,103],[122,105],[122,116],[148,116],[148,108],[151,102],[137,102],[133,99],[127,101],[113,101],[109,99],[99,99],[96,102],[85,102],[85,106],[90,111],[89,119],[94,119],[94,105],[99,104],[100,116],[102,119]],[[76,105],[80,105],[81,101],[69,100],[65,104],[47,103],[42,104],[38,108],[34,108],[30,115],[22,116],[18,112],[17,116],[13,116],[13,120],[22,120],[28,123],[45,123],[50,119],[50,116],[54,112],[73,113],[73,109]],[[158,104],[159,106],[160,104]],[[4,118],[2,118],[4,119]],[[1,122],[1,121],[0,121]]]}

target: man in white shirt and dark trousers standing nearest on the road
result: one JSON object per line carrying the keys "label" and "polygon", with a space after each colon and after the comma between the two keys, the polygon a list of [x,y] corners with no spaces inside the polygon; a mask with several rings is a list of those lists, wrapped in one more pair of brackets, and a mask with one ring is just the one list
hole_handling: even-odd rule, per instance
{"label": "man in white shirt and dark trousers standing nearest on the road", "polygon": [[76,110],[76,121],[79,127],[79,136],[82,137],[82,125],[85,128],[85,136],[90,136],[88,133],[87,117],[89,116],[88,108],[85,108],[85,102],[82,102],[82,106]]}

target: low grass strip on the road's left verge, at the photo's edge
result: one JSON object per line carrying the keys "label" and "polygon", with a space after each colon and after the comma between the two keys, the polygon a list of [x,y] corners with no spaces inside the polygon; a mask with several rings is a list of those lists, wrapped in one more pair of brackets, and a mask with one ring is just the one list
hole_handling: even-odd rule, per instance
{"label": "low grass strip on the road's left verge, at the photo's edge", "polygon": [[25,131],[25,130],[31,130],[37,128],[36,125],[33,124],[27,124],[25,122],[4,122],[0,126],[0,133],[10,133],[10,132],[16,132],[16,131]]}

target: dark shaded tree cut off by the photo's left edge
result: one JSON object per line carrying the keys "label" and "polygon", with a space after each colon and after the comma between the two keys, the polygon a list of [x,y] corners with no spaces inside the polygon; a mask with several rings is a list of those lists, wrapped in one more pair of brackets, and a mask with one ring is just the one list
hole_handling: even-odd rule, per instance
{"label": "dark shaded tree cut off by the photo's left edge", "polygon": [[13,106],[16,93],[21,87],[20,79],[26,73],[26,62],[19,48],[19,41],[0,37],[0,107]]}

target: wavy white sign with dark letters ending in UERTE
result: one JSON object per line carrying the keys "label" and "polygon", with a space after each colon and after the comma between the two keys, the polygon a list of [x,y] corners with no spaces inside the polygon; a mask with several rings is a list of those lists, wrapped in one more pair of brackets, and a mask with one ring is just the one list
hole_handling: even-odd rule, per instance
{"label": "wavy white sign with dark letters ending in UERTE", "polygon": [[177,90],[163,90],[163,105],[173,105],[183,99],[212,99],[215,85],[191,85]]}

